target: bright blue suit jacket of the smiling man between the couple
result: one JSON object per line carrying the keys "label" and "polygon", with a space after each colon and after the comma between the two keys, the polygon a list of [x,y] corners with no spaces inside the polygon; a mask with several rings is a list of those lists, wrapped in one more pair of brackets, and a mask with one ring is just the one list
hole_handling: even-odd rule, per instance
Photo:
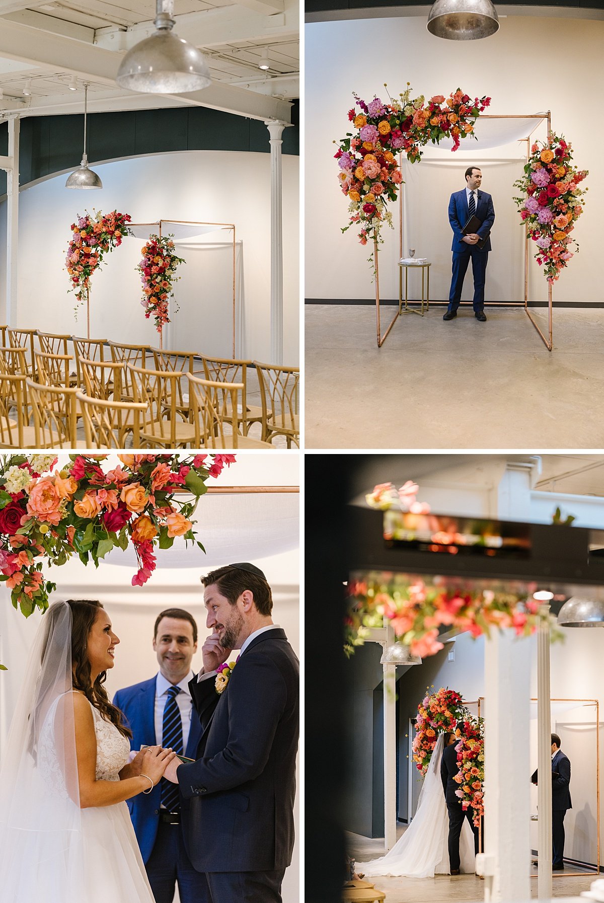
{"label": "bright blue suit jacket of the smiling man between the couple", "polygon": [[[125,715],[125,723],[132,731],[130,749],[154,746],[155,740],[155,677],[145,680],[141,684],[126,686],[118,690],[113,704]],[[195,717],[195,711],[191,712],[189,740],[185,756],[195,759],[198,743],[200,742],[200,722]],[[161,782],[153,787],[149,794],[139,793],[126,800],[132,824],[135,826],[136,840],[141,850],[143,861],[148,861],[153,851],[153,844],[157,837],[157,826],[160,821],[160,803],[162,801]]]}

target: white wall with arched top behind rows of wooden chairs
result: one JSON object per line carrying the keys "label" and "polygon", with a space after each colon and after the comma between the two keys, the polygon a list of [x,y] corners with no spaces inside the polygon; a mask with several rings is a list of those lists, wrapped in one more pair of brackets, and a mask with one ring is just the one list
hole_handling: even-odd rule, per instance
{"label": "white wall with arched top behind rows of wooden chairs", "polygon": [[[70,224],[84,209],[118,209],[133,222],[183,219],[234,223],[243,342],[237,356],[270,358],[270,154],[189,151],[95,166],[102,191],[68,191],[65,175],[20,194],[19,304],[14,325],[86,335],[86,312],[74,318],[65,251]],[[283,154],[283,362],[299,360],[298,157]],[[231,233],[208,236],[213,248],[185,248],[172,318],[172,348],[232,356]],[[127,238],[91,280],[90,334],[130,344],[158,344],[144,319],[135,266],[144,242]],[[178,253],[178,249],[177,249]],[[0,318],[5,322],[6,202],[0,205]],[[164,347],[168,347],[167,340]]]}

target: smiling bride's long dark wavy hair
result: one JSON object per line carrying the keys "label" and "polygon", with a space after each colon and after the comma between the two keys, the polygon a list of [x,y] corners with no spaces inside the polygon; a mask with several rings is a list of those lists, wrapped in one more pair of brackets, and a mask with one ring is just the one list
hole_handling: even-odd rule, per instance
{"label": "smiling bride's long dark wavy hair", "polygon": [[117,730],[128,739],[130,731],[122,721],[123,712],[109,702],[103,684],[107,680],[107,671],[101,671],[94,684],[90,680],[90,662],[88,660],[88,636],[98,618],[98,610],[103,606],[97,600],[68,599],[71,609],[71,666],[73,670],[73,688],[81,690],[88,702],[94,705],[103,718],[116,725]]}

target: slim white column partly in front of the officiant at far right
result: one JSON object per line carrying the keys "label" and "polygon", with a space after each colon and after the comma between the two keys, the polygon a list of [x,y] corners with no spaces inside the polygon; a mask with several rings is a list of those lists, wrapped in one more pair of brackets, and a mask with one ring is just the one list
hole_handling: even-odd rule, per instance
{"label": "slim white column partly in front of the officiant at far right", "polygon": [[[542,605],[546,614],[549,605]],[[552,717],[550,702],[550,630],[542,627],[537,635],[537,850],[539,875],[537,897],[552,897]]]}

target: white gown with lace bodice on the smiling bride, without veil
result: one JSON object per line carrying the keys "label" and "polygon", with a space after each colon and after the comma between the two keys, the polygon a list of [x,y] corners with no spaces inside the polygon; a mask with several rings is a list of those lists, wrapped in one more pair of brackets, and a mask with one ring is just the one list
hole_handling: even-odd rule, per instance
{"label": "white gown with lace bodice on the smiling bride, without veil", "polygon": [[[90,708],[97,736],[97,780],[118,781],[118,772],[129,759],[130,743],[98,709],[93,705]],[[65,781],[57,773],[57,761],[52,754],[52,714],[49,713],[42,729],[41,759],[45,755],[45,760],[41,760],[40,770],[46,772],[47,793],[50,784],[55,794],[65,797]],[[74,870],[79,872],[78,878],[73,876],[73,885],[81,903],[154,903],[127,805],[116,803],[81,809],[79,819],[82,861],[73,862]],[[48,852],[47,858],[52,860]],[[69,847],[64,855],[66,861]],[[76,903],[76,898],[73,901],[55,898],[51,882],[47,883],[43,899],[44,903]]]}

